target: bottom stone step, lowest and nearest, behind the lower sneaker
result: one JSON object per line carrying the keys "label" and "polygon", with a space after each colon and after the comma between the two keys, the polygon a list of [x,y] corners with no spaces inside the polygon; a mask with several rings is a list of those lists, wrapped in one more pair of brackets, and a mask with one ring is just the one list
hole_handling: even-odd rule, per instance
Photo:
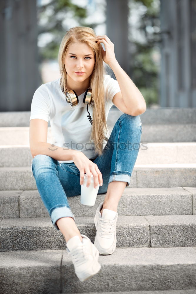
{"label": "bottom stone step, lowest and nearest, behind the lower sneaker", "polygon": [[95,276],[80,282],[66,250],[0,252],[1,293],[195,289],[195,253],[195,247],[116,248],[99,256]]}

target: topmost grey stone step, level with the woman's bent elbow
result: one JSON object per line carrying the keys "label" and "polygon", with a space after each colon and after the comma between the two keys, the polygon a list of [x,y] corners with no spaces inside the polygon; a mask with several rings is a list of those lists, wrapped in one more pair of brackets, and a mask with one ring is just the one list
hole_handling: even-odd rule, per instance
{"label": "topmost grey stone step, level with the woman's bent elbow", "polygon": [[[123,114],[118,108],[110,108],[108,113],[108,124],[117,121]],[[196,108],[194,107],[160,107],[147,108],[140,115],[145,125],[153,124],[187,124],[196,123]],[[0,112],[0,127],[29,126],[30,111],[8,111]],[[50,126],[50,121],[49,124]]]}

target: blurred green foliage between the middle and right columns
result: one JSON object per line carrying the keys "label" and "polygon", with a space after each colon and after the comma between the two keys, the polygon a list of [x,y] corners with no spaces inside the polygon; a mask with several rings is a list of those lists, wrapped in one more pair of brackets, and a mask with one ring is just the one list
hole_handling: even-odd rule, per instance
{"label": "blurred green foliage between the middle and right columns", "polygon": [[[151,104],[159,104],[160,97],[160,76],[159,69],[160,64],[155,62],[153,53],[159,54],[159,37],[157,35],[148,35],[146,26],[151,26],[159,23],[158,9],[153,5],[155,1],[159,0],[135,0],[135,2],[141,3],[147,7],[145,14],[140,19],[139,30],[143,32],[145,36],[145,42],[139,43],[135,40],[130,40],[135,47],[135,50],[131,53],[131,78],[135,85],[141,91],[146,106],[150,107]],[[155,47],[156,45],[156,47]]]}

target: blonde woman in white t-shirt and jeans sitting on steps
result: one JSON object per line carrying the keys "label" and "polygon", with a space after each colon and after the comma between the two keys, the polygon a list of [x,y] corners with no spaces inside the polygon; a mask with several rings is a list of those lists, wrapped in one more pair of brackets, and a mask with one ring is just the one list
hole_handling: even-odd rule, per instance
{"label": "blonde woman in white t-shirt and jeans sitting on steps", "polygon": [[[65,237],[76,275],[84,281],[100,270],[99,253],[112,254],[116,248],[117,206],[130,186],[142,133],[139,115],[146,105],[115,59],[108,36],[96,36],[88,27],[71,28],[58,60],[61,78],[41,85],[31,103],[31,169],[51,222]],[[103,61],[117,80],[106,74]],[[123,115],[109,135],[106,121],[113,104]],[[47,143],[49,119],[54,144]],[[94,218],[94,244],[80,234],[67,199],[80,195],[85,173],[87,186],[92,174],[94,186],[100,184],[98,194],[106,193]]]}

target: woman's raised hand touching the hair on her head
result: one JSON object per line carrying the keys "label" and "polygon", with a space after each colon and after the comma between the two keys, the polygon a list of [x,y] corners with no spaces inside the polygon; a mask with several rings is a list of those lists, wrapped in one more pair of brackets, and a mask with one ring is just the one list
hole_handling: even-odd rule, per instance
{"label": "woman's raised hand touching the hair on her head", "polygon": [[110,63],[116,61],[115,54],[114,54],[114,44],[108,36],[97,36],[97,44],[103,43],[105,46],[105,50],[103,49],[101,45],[101,52],[102,52],[102,58],[105,63],[110,65]]}

